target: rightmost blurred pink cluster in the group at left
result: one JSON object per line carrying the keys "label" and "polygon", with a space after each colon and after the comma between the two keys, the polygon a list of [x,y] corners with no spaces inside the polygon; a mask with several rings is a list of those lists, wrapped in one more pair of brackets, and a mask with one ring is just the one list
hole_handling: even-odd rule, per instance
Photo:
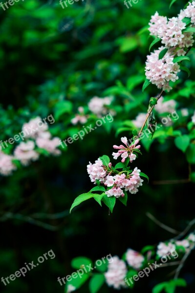
{"label": "rightmost blurred pink cluster in the group at left", "polygon": [[60,155],[61,151],[57,148],[59,146],[59,137],[54,137],[51,139],[51,134],[49,132],[43,132],[36,139],[36,144],[38,147],[47,150],[52,155]]}

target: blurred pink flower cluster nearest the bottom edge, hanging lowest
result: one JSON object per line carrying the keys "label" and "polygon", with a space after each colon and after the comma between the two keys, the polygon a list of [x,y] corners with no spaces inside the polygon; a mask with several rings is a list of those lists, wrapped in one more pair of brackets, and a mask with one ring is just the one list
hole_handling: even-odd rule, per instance
{"label": "blurred pink flower cluster nearest the bottom edge, hanging lowest", "polygon": [[114,289],[121,289],[127,287],[124,279],[127,274],[127,267],[123,260],[118,256],[113,257],[113,261],[108,264],[108,271],[105,272],[105,278],[108,286]]}

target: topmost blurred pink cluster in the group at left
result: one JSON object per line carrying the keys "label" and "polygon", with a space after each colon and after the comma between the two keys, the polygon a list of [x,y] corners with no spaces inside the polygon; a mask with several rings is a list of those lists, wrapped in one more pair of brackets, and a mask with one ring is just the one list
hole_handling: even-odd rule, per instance
{"label": "topmost blurred pink cluster in the group at left", "polygon": [[28,123],[25,123],[22,126],[22,131],[25,133],[26,138],[36,138],[41,132],[46,131],[47,129],[48,126],[43,123],[40,117],[31,119]]}

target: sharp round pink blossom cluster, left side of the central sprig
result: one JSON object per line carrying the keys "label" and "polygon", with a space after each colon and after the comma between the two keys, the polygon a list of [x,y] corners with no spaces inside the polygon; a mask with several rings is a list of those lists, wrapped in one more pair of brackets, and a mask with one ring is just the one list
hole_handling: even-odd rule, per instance
{"label": "sharp round pink blossom cluster, left side of the central sprig", "polygon": [[89,165],[87,165],[87,173],[89,174],[91,182],[94,182],[94,184],[95,180],[99,180],[101,182],[105,181],[107,173],[103,166],[104,165],[100,159],[95,161],[95,164],[91,164],[89,162]]}

